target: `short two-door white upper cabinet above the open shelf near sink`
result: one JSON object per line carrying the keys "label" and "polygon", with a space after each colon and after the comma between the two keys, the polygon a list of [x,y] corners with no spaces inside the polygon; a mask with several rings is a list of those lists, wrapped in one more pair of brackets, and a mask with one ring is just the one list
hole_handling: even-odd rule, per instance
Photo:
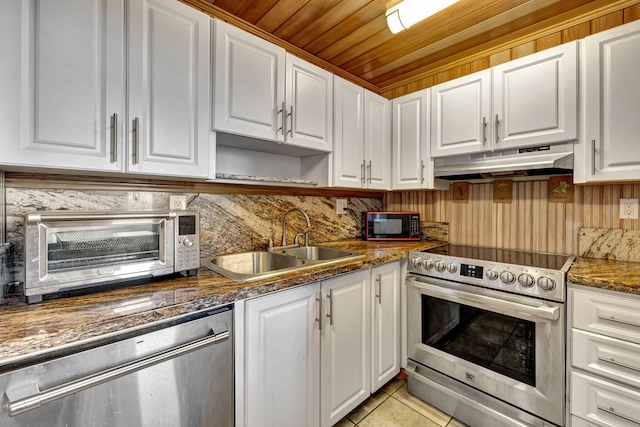
{"label": "short two-door white upper cabinet above the open shelf near sink", "polygon": [[332,74],[214,21],[215,130],[332,150]]}

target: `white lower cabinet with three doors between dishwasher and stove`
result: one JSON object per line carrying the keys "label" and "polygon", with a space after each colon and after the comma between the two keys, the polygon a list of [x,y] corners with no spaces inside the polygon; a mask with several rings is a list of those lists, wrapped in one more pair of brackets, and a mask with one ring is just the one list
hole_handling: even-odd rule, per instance
{"label": "white lower cabinet with three doors between dishwasher and stove", "polygon": [[238,425],[330,427],[393,378],[399,275],[394,262],[247,300]]}

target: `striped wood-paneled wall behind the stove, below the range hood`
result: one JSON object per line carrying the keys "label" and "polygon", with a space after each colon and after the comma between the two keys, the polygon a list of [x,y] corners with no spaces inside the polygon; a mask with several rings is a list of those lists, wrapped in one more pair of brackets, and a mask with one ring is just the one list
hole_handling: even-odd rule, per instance
{"label": "striped wood-paneled wall behind the stove, below the range hood", "polygon": [[640,198],[640,184],[574,187],[573,203],[550,203],[549,181],[514,182],[511,203],[493,202],[493,184],[469,186],[469,201],[451,191],[387,193],[385,210],[417,211],[423,221],[449,223],[451,243],[575,254],[578,228],[640,230],[620,220],[620,198]]}

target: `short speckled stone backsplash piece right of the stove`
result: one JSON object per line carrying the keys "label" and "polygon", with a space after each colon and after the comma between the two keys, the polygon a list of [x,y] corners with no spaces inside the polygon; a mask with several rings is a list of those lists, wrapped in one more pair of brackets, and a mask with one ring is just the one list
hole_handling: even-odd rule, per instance
{"label": "short speckled stone backsplash piece right of the stove", "polygon": [[580,228],[578,256],[640,262],[640,230]]}

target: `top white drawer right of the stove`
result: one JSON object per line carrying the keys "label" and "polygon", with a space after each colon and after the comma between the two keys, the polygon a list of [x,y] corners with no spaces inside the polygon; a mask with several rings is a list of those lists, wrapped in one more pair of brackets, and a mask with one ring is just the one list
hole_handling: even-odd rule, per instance
{"label": "top white drawer right of the stove", "polygon": [[572,326],[640,344],[640,301],[572,289]]}

